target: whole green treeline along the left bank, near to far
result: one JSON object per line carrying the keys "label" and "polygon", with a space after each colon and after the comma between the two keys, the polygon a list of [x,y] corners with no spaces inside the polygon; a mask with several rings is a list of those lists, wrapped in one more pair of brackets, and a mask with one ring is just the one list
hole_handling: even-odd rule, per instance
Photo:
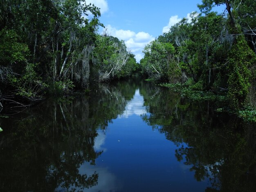
{"label": "whole green treeline along the left bank, near to far", "polygon": [[1,0],[0,107],[135,72],[124,42],[99,35],[100,15],[85,0]]}

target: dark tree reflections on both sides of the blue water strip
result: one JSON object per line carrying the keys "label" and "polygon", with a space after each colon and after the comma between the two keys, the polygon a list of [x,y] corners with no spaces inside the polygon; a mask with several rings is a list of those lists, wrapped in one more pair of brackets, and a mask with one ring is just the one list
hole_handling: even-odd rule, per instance
{"label": "dark tree reflections on both sides of the blue water strip", "polygon": [[[81,191],[97,185],[97,129],[122,114],[137,89],[149,112],[141,118],[177,145],[177,160],[191,167],[197,181],[209,179],[206,191],[256,191],[255,124],[216,113],[218,103],[191,102],[152,84],[102,84],[89,96],[48,100],[0,119],[0,191]],[[82,174],[86,162],[92,169]]]}

